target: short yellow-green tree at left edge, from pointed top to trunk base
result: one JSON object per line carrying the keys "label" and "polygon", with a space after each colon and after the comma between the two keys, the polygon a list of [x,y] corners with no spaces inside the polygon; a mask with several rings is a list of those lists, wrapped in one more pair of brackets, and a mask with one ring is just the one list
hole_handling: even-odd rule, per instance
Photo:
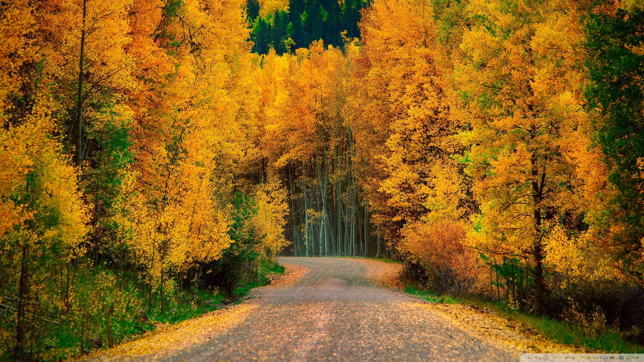
{"label": "short yellow-green tree at left edge, from pointed top to trunk base", "polygon": [[50,99],[34,101],[26,117],[12,122],[3,117],[0,131],[0,286],[5,298],[15,300],[10,343],[16,359],[28,354],[31,334],[42,323],[26,315],[59,301],[46,278],[68,258],[83,254],[87,222],[75,171],[55,137]]}

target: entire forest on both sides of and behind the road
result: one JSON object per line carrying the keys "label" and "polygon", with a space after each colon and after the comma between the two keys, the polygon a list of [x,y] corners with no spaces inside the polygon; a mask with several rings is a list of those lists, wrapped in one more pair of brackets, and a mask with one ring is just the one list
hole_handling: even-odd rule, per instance
{"label": "entire forest on both sides of and behind the road", "polygon": [[641,2],[0,18],[3,357],[111,346],[280,252],[386,256],[437,292],[644,329]]}

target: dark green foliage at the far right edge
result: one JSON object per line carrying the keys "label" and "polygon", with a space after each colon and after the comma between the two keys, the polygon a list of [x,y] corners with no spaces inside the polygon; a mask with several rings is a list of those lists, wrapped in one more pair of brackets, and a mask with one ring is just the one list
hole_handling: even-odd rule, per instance
{"label": "dark green foliage at the far right edge", "polygon": [[583,19],[591,84],[586,97],[596,112],[593,141],[603,152],[610,182],[600,231],[622,267],[644,278],[644,10],[614,14],[600,3]]}

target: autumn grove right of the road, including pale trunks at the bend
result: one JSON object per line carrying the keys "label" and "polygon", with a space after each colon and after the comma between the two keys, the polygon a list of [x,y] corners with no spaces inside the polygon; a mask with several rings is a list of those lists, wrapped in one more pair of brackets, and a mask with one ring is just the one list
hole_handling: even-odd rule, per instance
{"label": "autumn grove right of the road, including pale trunks at the bend", "polygon": [[642,330],[642,16],[374,0],[360,39],[269,47],[257,167],[289,190],[284,253],[386,254],[434,291]]}

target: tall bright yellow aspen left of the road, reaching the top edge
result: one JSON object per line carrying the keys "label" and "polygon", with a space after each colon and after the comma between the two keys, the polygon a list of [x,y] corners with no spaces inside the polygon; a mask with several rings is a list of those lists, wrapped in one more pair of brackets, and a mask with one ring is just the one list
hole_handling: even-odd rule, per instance
{"label": "tall bright yellow aspen left of the road, reaching the top edge", "polygon": [[230,243],[227,203],[236,163],[252,147],[256,95],[241,3],[186,1],[163,27],[158,58],[175,67],[142,90],[146,97],[156,82],[163,91],[151,96],[156,108],[137,104],[137,162],[117,216],[162,309],[168,271],[214,260]]}

